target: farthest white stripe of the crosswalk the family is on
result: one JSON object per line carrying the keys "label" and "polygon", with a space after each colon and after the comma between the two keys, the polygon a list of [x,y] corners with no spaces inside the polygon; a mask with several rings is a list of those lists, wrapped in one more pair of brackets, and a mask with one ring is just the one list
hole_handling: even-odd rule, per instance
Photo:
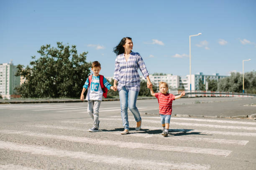
{"label": "farthest white stripe of the crosswalk the family is on", "polygon": [[[120,117],[120,116],[111,116]],[[158,118],[159,117],[142,117],[142,118]],[[183,118],[183,117],[171,117],[171,120],[189,120],[189,121],[199,121],[199,122],[217,122],[217,123],[231,123],[231,124],[244,124],[244,125],[256,125],[256,122],[242,122],[242,121],[231,121],[231,120],[211,120],[211,119],[196,119],[196,118]]]}

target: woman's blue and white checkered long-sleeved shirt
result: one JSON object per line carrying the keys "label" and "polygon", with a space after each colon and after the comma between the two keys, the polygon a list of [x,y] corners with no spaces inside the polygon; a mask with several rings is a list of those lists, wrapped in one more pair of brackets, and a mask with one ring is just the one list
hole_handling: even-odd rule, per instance
{"label": "woman's blue and white checkered long-sleeved shirt", "polygon": [[138,52],[131,52],[127,62],[124,54],[116,57],[114,79],[118,81],[118,91],[124,86],[128,90],[140,91],[141,81],[138,68],[146,79],[149,75],[148,70]]}

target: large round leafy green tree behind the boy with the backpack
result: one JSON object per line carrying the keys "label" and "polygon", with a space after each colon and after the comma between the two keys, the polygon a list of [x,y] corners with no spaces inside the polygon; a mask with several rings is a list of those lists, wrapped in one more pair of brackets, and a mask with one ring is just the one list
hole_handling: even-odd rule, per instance
{"label": "large round leafy green tree behind the boy with the backpack", "polygon": [[62,42],[57,42],[57,47],[42,45],[37,52],[41,57],[36,60],[33,56],[31,67],[18,65],[16,75],[26,79],[17,88],[22,97],[79,97],[90,74],[87,52],[78,55],[75,45]]}

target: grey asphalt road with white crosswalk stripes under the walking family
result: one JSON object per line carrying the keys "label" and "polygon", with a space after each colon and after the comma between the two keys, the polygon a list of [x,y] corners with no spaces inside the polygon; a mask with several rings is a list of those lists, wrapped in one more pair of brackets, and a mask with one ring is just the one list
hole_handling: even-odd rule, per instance
{"label": "grey asphalt road with white crosswalk stripes under the walking family", "polygon": [[135,131],[129,113],[128,135],[120,135],[119,101],[102,102],[97,133],[87,131],[87,102],[0,105],[0,169],[255,170],[256,120],[196,116],[255,114],[251,104],[254,98],[175,100],[168,137],[157,100],[137,101],[142,129]]}

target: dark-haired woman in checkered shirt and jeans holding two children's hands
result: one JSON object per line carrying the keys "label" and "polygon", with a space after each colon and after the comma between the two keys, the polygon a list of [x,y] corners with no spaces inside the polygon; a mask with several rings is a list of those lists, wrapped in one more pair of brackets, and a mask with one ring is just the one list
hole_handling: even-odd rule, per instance
{"label": "dark-haired woman in checkered shirt and jeans holding two children's hands", "polygon": [[[124,37],[114,48],[113,52],[117,55],[115,59],[114,85],[118,88],[121,104],[121,117],[123,120],[124,131],[122,135],[129,133],[128,107],[133,113],[137,122],[136,131],[141,129],[141,115],[136,107],[136,100],[140,91],[140,76],[138,68],[141,70],[147,87],[152,87],[148,77],[146,65],[138,52],[133,52],[133,41],[130,37]],[[118,87],[116,83],[118,82]]]}

